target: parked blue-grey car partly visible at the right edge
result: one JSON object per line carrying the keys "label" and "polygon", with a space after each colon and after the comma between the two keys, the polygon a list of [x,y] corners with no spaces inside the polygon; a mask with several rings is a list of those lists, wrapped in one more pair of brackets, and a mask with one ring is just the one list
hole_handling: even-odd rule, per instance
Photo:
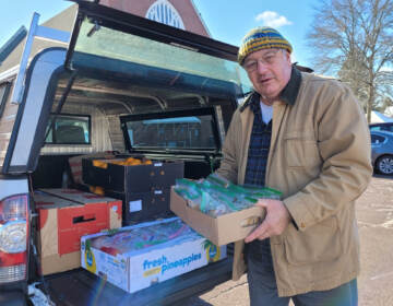
{"label": "parked blue-grey car partly visible at the right edge", "polygon": [[370,131],[371,160],[376,172],[393,175],[393,132]]}

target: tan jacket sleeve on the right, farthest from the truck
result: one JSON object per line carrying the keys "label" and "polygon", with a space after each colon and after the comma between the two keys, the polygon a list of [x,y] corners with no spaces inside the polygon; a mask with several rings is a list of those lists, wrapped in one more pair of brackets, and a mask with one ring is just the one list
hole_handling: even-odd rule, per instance
{"label": "tan jacket sleeve on the right, farthest from the truck", "polygon": [[330,86],[326,98],[318,103],[315,120],[323,161],[320,175],[284,199],[300,231],[350,204],[365,191],[372,174],[370,132],[349,89]]}

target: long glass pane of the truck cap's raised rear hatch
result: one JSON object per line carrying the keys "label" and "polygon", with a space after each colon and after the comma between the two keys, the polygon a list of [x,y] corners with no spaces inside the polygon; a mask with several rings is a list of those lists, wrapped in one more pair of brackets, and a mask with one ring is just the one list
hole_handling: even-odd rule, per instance
{"label": "long glass pane of the truck cap's raised rear hatch", "polygon": [[117,59],[181,73],[221,80],[236,84],[242,92],[249,92],[251,83],[246,71],[235,61],[216,58],[175,45],[151,40],[136,35],[100,26],[94,35],[88,35],[92,24],[85,20],[80,28],[73,55],[73,63],[84,64],[78,52]]}

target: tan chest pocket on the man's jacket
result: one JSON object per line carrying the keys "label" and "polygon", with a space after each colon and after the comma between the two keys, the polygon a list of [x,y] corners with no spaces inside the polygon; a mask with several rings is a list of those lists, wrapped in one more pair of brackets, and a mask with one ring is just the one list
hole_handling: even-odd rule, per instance
{"label": "tan chest pocket on the man's jacket", "polygon": [[284,145],[287,167],[314,167],[321,163],[318,144],[312,134],[287,134]]}

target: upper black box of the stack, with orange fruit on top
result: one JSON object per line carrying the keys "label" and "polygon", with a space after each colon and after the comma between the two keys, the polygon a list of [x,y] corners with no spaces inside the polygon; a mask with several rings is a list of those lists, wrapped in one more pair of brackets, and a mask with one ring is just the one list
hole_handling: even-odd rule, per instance
{"label": "upper black box of the stack, with orange fruit on top", "polygon": [[[93,165],[94,158],[82,160],[83,181],[118,192],[147,192],[169,188],[184,176],[182,161],[157,162],[152,165],[122,166],[108,163],[107,168]],[[105,163],[112,160],[99,160]]]}

